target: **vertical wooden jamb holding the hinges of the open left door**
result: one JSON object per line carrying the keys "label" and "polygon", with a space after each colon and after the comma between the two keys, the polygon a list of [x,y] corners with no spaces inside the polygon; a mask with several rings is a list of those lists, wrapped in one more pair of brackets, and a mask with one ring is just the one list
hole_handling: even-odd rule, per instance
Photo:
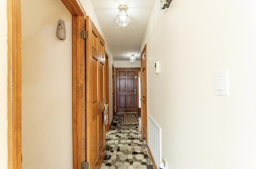
{"label": "vertical wooden jamb holding the hinges of the open left door", "polygon": [[73,169],[80,169],[86,160],[86,80],[84,16],[72,16],[72,104],[73,104]]}

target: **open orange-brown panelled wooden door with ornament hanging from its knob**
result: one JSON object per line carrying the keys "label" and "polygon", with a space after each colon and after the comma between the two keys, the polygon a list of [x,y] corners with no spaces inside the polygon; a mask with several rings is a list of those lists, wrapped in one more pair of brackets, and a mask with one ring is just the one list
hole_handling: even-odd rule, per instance
{"label": "open orange-brown panelled wooden door with ornament hanging from its knob", "polygon": [[86,161],[90,169],[100,169],[105,155],[106,103],[105,41],[86,16]]}

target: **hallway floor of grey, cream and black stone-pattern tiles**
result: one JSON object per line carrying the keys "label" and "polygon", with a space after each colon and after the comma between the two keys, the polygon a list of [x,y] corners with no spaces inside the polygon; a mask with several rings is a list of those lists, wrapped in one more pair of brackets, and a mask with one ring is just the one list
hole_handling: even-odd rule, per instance
{"label": "hallway floor of grey, cream and black stone-pattern tiles", "polygon": [[140,114],[135,114],[138,123],[124,125],[123,114],[113,117],[110,131],[106,133],[106,150],[101,169],[153,169],[146,141],[141,134]]}

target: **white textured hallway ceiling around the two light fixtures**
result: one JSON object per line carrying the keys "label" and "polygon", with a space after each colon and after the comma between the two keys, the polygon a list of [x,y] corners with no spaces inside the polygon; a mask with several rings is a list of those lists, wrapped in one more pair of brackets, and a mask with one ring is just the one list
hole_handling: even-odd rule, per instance
{"label": "white textured hallway ceiling around the two light fixtures", "polygon": [[[155,0],[91,0],[97,18],[116,61],[129,60],[135,54],[140,60],[140,42],[148,24]],[[120,27],[114,19],[118,7],[126,5],[132,22]]]}

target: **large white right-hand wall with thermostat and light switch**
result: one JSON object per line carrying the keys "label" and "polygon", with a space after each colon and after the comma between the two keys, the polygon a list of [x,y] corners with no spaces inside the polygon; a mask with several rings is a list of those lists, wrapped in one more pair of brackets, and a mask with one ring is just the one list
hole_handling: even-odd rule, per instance
{"label": "large white right-hand wall with thermostat and light switch", "polygon": [[[148,114],[162,128],[168,169],[256,168],[256,2],[156,0],[148,49]],[[159,61],[160,73],[154,73]],[[229,69],[230,96],[214,73]]]}

